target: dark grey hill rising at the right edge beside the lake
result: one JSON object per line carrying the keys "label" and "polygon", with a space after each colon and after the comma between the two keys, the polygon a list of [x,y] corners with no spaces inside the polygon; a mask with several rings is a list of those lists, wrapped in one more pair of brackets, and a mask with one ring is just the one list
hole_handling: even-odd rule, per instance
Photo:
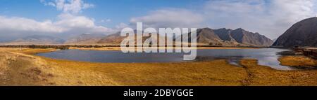
{"label": "dark grey hill rising at the right edge beside the lake", "polygon": [[294,24],[278,38],[273,46],[317,47],[317,17],[311,17]]}

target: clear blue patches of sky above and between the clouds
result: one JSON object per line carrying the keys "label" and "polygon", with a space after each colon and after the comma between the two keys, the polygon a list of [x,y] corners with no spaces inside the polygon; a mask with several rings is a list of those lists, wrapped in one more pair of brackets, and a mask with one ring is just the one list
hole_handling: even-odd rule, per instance
{"label": "clear blue patches of sky above and between the clouds", "polygon": [[[93,17],[97,24],[114,27],[121,22],[129,22],[131,17],[146,15],[160,8],[193,8],[206,0],[85,0],[94,8],[82,10],[80,15]],[[0,15],[20,16],[35,20],[55,19],[61,10],[44,6],[39,0],[0,0]],[[108,20],[111,22],[101,22]],[[98,22],[100,21],[100,22]]]}

